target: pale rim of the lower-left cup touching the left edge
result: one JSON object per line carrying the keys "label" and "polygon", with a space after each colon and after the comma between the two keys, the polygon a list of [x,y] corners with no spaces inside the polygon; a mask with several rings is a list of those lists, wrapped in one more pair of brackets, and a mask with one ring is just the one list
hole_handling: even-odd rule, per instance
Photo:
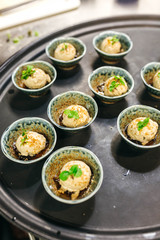
{"label": "pale rim of the lower-left cup touching the left edge", "polygon": [[[19,159],[16,159],[14,157],[12,157],[10,154],[8,154],[8,152],[6,151],[6,148],[3,144],[3,139],[4,137],[6,136],[6,134],[8,134],[10,131],[12,131],[13,129],[13,126],[16,124],[19,124],[21,122],[24,122],[25,120],[30,120],[30,121],[35,121],[35,120],[39,120],[41,122],[45,122],[49,128],[51,128],[53,130],[53,133],[54,133],[54,142],[51,146],[51,148],[49,149],[48,152],[46,152],[43,156],[39,157],[39,158],[36,158],[34,160],[27,160],[27,161],[23,161],[23,160],[19,160]],[[15,129],[15,128],[14,128]],[[3,132],[2,134],[2,137],[1,137],[1,150],[3,152],[3,154],[11,161],[13,162],[16,162],[16,163],[21,163],[21,164],[32,164],[32,163],[35,163],[35,162],[38,162],[38,161],[41,161],[42,159],[44,159],[45,157],[47,157],[51,152],[52,150],[54,149],[55,145],[56,145],[56,142],[57,142],[57,133],[56,133],[56,130],[55,128],[52,126],[52,124],[50,122],[48,122],[46,119],[43,119],[43,118],[40,118],[40,117],[24,117],[24,118],[20,118],[14,122],[12,122]]]}

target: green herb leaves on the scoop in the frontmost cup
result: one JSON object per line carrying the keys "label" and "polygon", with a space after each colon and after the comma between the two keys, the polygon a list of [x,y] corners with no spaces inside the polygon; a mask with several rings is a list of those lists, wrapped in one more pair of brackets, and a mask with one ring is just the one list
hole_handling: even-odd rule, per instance
{"label": "green herb leaves on the scoop in the frontmost cup", "polygon": [[59,178],[62,181],[66,181],[70,175],[73,175],[74,177],[80,177],[82,175],[82,170],[78,167],[78,165],[73,165],[69,171],[61,172]]}

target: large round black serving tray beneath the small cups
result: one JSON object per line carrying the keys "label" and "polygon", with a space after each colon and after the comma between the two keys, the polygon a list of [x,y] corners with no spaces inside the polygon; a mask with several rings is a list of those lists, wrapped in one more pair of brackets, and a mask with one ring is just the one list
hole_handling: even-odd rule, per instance
{"label": "large round black serving tray beneath the small cups", "polygon": [[[49,36],[22,49],[1,67],[1,127],[2,132],[22,117],[47,118],[47,105],[59,93],[79,90],[93,96],[88,76],[105,64],[92,46],[93,37],[104,30],[129,34],[132,51],[117,66],[127,69],[135,87],[124,100],[101,104],[99,113],[86,130],[67,134],[56,128],[56,149],[68,145],[83,146],[93,151],[104,169],[99,192],[87,202],[66,205],[52,199],[41,182],[44,161],[21,165],[0,155],[1,214],[20,228],[46,239],[160,239],[160,149],[136,152],[118,134],[118,114],[133,104],[160,109],[141,81],[141,68],[160,61],[160,16],[129,16],[106,18],[83,23]],[[20,93],[11,82],[13,70],[25,61],[45,60],[45,46],[55,37],[73,36],[87,46],[87,53],[72,71],[58,70],[51,90],[39,99]]]}

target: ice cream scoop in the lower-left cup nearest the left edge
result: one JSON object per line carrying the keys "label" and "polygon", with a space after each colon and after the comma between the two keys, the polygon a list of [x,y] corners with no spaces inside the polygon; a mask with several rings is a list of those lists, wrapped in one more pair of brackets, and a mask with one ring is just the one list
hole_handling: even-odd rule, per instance
{"label": "ice cream scoop in the lower-left cup nearest the left edge", "polygon": [[[27,137],[25,137],[27,136]],[[25,137],[25,141],[23,142]],[[37,132],[29,131],[20,135],[16,141],[17,150],[22,156],[34,156],[46,147],[46,138]]]}

